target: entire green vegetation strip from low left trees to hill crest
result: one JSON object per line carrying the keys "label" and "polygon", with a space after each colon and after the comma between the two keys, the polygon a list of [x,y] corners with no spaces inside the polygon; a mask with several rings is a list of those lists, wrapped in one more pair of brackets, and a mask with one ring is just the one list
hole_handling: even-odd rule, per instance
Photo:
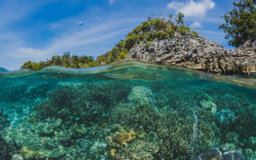
{"label": "entire green vegetation strip from low left trees to hill crest", "polygon": [[154,41],[154,39],[171,39],[177,32],[182,35],[188,33],[192,33],[194,36],[198,35],[196,31],[191,31],[188,26],[184,25],[184,14],[178,14],[175,18],[175,22],[172,21],[173,15],[169,15],[169,18],[169,20],[165,20],[165,18],[160,17],[149,17],[146,22],[142,22],[141,25],[128,33],[125,40],[122,39],[118,42],[110,52],[97,56],[96,60],[91,56],[71,56],[70,52],[65,52],[61,57],[59,55],[54,55],[51,60],[25,62],[21,68],[38,71],[52,65],[67,68],[87,68],[91,66],[105,65],[107,63],[125,59],[129,50],[141,42],[146,42],[145,47],[147,47]]}

